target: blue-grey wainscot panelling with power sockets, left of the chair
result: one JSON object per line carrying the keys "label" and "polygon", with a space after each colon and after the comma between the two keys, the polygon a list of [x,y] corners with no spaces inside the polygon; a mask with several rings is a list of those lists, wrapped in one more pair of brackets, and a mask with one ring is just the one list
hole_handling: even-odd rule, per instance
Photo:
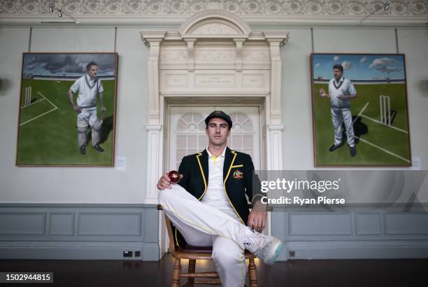
{"label": "blue-grey wainscot panelling with power sockets, left of the chair", "polygon": [[150,204],[0,204],[0,258],[159,260],[158,212]]}

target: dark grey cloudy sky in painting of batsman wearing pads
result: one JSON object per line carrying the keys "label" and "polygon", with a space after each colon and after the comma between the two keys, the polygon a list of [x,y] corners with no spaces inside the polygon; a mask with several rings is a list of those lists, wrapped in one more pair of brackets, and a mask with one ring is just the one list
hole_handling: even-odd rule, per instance
{"label": "dark grey cloudy sky in painting of batsman wearing pads", "polygon": [[115,54],[24,54],[23,74],[82,76],[86,65],[96,62],[98,76],[114,76]]}

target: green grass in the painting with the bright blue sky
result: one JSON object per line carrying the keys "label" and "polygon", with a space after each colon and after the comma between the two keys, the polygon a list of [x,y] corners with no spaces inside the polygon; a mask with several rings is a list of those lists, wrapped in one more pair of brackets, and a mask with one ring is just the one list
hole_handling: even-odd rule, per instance
{"label": "green grass in the painting with the bright blue sky", "polygon": [[[324,87],[328,90],[327,83],[314,83],[315,94],[315,131],[316,131],[316,162],[318,165],[409,165],[406,160],[390,155],[385,151],[371,146],[363,141],[357,143],[357,155],[350,156],[349,148],[345,144],[334,152],[329,152],[329,147],[334,142],[334,130],[331,123],[329,99],[319,96],[319,90]],[[362,113],[375,120],[380,120],[379,96],[385,95],[391,98],[391,109],[397,111],[392,125],[401,130],[408,131],[406,86],[404,84],[355,84],[358,97],[351,101],[352,116],[357,116],[364,105],[369,102]],[[399,157],[410,160],[410,147],[408,134],[386,127],[367,118],[361,118],[356,123],[355,131],[362,132],[361,139],[369,141],[376,146],[390,151]]]}

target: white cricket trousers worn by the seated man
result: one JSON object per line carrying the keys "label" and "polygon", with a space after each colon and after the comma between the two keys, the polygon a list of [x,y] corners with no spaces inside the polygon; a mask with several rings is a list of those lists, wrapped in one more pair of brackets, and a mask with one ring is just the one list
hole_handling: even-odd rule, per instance
{"label": "white cricket trousers worn by the seated man", "polygon": [[188,244],[213,246],[213,261],[222,286],[244,286],[247,271],[243,240],[250,232],[248,226],[200,202],[178,184],[160,190],[159,203]]}

